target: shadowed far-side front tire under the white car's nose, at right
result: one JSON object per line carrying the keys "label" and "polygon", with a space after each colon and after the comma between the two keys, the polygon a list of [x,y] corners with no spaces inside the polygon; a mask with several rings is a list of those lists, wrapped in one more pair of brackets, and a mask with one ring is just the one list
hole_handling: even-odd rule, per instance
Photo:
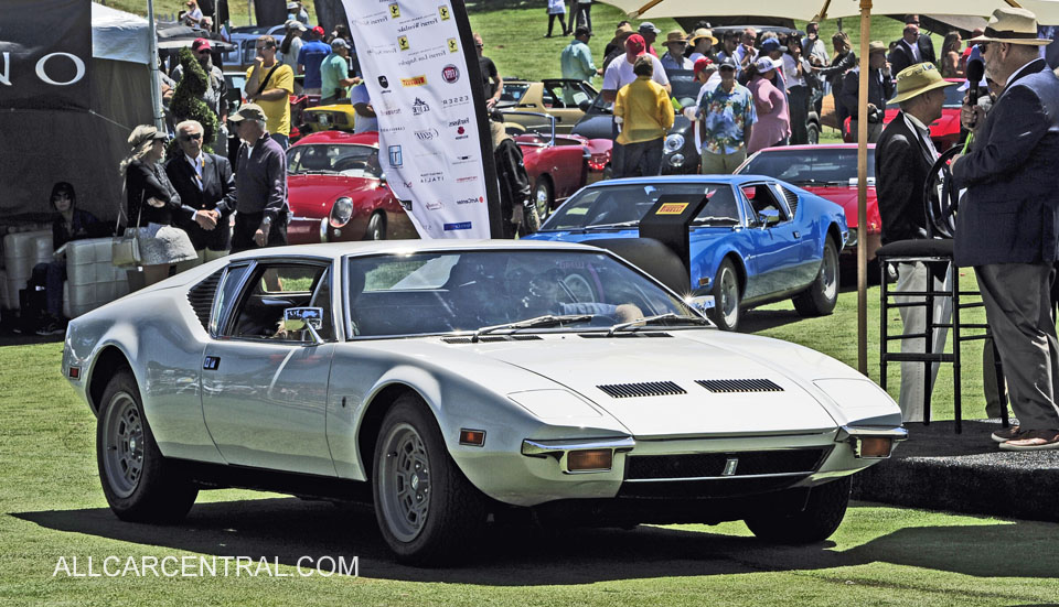
{"label": "shadowed far-side front tire under the white car's nose, at right", "polygon": [[842,524],[849,505],[852,476],[813,487],[805,509],[788,514],[769,513],[745,520],[755,536],[777,544],[822,542]]}

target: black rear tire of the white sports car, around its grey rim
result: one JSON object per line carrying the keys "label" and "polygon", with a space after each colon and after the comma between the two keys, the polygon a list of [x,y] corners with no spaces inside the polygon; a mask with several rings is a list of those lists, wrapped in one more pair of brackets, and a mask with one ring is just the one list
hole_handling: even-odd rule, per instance
{"label": "black rear tire of the white sports car, around its grey rim", "polygon": [[[136,487],[128,496],[120,496],[107,478],[105,455],[107,449],[117,448],[106,434],[107,413],[111,405],[125,398],[131,398],[136,404],[139,423],[142,424],[142,466]],[[96,422],[96,463],[103,494],[110,510],[124,521],[174,523],[181,521],[195,503],[199,488],[179,469],[167,460],[154,442],[136,378],[129,369],[120,369],[107,383],[100,399]],[[121,491],[124,492],[124,491]]]}

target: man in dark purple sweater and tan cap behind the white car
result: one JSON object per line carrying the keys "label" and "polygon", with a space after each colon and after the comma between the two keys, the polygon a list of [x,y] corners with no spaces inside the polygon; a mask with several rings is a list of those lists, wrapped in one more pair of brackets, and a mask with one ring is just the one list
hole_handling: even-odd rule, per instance
{"label": "man in dark purple sweater and tan cap behind the white car", "polygon": [[[243,140],[235,173],[232,252],[287,243],[287,155],[265,128],[265,111],[245,104],[229,117]],[[217,204],[221,215],[232,209]]]}

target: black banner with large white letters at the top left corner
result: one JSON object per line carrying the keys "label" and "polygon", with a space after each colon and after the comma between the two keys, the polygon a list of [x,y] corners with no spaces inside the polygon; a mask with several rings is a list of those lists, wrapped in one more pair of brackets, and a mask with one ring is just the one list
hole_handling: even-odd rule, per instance
{"label": "black banner with large white letters at the top left corner", "polygon": [[2,0],[0,109],[87,110],[90,0]]}

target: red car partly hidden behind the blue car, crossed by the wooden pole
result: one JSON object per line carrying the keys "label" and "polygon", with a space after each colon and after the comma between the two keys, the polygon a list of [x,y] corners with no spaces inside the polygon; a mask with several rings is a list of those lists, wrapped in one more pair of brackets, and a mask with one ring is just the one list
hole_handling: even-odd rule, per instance
{"label": "red car partly hidden behind the blue car, crossed by the wooden pole", "polygon": [[[842,250],[844,264],[857,260],[857,144],[787,145],[766,148],[736,170],[742,175],[766,175],[783,180],[817,196],[842,205],[849,226],[849,240]],[[868,144],[868,261],[881,246],[882,219],[875,197],[875,144]]]}

